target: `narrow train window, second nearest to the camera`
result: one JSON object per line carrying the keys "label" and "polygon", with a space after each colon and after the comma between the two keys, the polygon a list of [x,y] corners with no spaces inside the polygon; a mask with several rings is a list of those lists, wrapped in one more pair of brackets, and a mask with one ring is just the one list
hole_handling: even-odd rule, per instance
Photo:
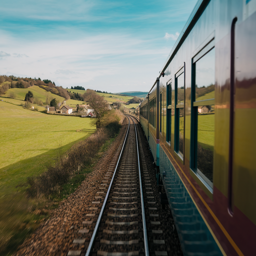
{"label": "narrow train window, second nearest to the camera", "polygon": [[175,130],[174,149],[183,158],[184,147],[184,68],[175,75]]}

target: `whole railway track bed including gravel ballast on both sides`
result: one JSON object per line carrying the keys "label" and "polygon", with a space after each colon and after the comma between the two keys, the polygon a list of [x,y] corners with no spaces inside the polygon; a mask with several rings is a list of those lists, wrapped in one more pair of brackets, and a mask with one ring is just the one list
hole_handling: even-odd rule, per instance
{"label": "whole railway track bed including gravel ballast on both sides", "polygon": [[[93,172],[63,201],[52,217],[22,244],[15,256],[84,256],[86,251],[91,255],[145,255],[143,230],[147,231],[147,253],[150,256],[182,255],[177,235],[173,232],[170,210],[168,207],[163,210],[159,202],[147,141],[140,125],[135,122],[139,131],[138,150],[132,124],[116,167],[128,126],[126,119],[112,149],[102,156]],[[111,180],[112,188],[108,191]],[[145,217],[142,217],[141,201],[145,205]],[[92,236],[94,242],[89,245]]]}

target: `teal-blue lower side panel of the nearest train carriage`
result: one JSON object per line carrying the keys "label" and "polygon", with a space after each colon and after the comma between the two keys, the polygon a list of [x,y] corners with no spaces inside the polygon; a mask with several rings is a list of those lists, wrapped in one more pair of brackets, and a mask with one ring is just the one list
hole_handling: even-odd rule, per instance
{"label": "teal-blue lower side panel of the nearest train carriage", "polygon": [[175,221],[183,255],[222,255],[173,165],[160,147],[160,173]]}

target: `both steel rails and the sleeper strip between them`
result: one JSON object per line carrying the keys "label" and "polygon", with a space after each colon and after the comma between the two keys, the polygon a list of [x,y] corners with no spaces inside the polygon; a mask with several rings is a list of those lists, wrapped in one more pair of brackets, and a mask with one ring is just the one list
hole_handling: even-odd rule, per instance
{"label": "both steel rails and the sleeper strip between them", "polygon": [[[129,125],[125,141],[86,256],[92,252],[107,256],[130,256],[139,252],[148,255],[136,127],[133,118],[127,118]],[[107,179],[108,175],[110,173],[106,174]]]}

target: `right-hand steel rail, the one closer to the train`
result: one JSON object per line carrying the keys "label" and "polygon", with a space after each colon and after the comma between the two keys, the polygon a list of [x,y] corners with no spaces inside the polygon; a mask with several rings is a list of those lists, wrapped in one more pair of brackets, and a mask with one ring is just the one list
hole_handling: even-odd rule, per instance
{"label": "right-hand steel rail, the one closer to the train", "polygon": [[142,179],[141,179],[140,164],[139,164],[137,129],[136,129],[136,125],[135,125],[135,122],[134,122],[133,119],[132,119],[132,121],[133,121],[133,124],[134,124],[134,127],[135,127],[135,134],[136,134],[136,146],[137,146],[137,157],[138,157],[138,174],[139,174],[139,188],[140,188],[140,201],[141,201],[141,211],[142,211],[142,225],[143,225],[143,237],[144,237],[145,256],[149,256],[147,234],[146,234],[146,218],[145,218],[143,191],[142,191]]}

